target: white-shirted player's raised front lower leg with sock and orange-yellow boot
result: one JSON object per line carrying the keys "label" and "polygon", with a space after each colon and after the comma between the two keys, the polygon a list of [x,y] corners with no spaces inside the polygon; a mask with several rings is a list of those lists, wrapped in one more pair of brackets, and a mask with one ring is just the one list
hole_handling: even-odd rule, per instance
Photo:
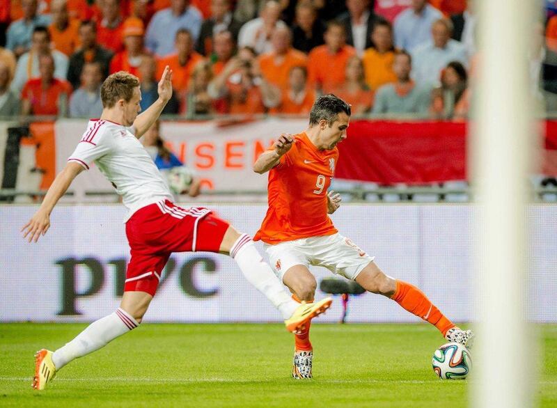
{"label": "white-shirted player's raised front lower leg with sock and orange-yellow boot", "polygon": [[239,233],[233,226],[226,230],[219,252],[227,253],[234,258],[247,281],[278,308],[288,331],[304,329],[313,317],[317,317],[331,305],[331,298],[322,299],[315,304],[300,305],[294,301],[286,293],[271,267],[263,261],[251,237]]}

